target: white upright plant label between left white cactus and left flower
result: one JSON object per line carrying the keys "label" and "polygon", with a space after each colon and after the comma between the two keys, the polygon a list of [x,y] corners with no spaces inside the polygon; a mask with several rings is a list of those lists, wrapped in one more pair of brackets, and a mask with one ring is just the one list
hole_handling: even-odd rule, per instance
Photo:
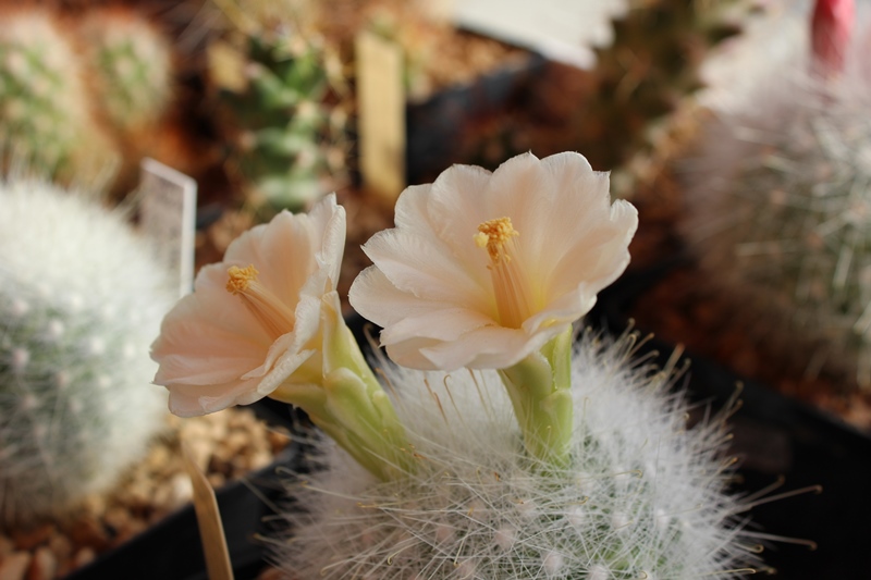
{"label": "white upright plant label between left white cactus and left flower", "polygon": [[172,168],[144,159],[140,164],[142,225],[158,259],[177,275],[179,296],[194,284],[197,182]]}

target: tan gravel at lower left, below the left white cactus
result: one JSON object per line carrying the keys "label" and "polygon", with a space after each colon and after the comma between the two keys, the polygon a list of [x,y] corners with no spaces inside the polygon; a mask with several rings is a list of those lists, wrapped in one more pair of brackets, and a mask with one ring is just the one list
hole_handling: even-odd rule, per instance
{"label": "tan gravel at lower left, below the left white cactus", "polygon": [[74,520],[0,534],[0,580],[63,578],[189,502],[193,489],[180,440],[216,489],[268,465],[290,441],[250,411],[228,409],[214,415],[173,418],[174,433],[156,444],[112,494],[87,497]]}

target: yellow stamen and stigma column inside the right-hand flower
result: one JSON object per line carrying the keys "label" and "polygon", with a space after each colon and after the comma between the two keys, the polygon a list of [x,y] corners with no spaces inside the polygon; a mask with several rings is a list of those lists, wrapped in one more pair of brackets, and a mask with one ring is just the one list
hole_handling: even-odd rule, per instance
{"label": "yellow stamen and stigma column inside the right-hand flower", "polygon": [[511,218],[498,218],[478,224],[475,245],[487,248],[490,256],[490,280],[493,283],[499,321],[503,326],[519,329],[532,314],[527,280],[515,260],[520,235]]}

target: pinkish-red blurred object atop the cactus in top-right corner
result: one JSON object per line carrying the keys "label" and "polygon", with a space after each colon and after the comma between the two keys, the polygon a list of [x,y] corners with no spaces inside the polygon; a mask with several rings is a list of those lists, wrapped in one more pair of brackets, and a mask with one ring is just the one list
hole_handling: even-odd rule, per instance
{"label": "pinkish-red blurred object atop the cactus in top-right corner", "polygon": [[824,75],[844,70],[855,15],[854,0],[817,0],[811,20],[814,70]]}

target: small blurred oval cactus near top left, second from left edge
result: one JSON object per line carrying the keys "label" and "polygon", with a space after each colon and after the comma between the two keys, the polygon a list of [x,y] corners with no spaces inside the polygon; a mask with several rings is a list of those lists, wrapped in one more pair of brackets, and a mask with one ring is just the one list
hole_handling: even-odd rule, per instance
{"label": "small blurred oval cactus near top left, second from left edge", "polygon": [[130,10],[98,10],[79,25],[97,102],[130,133],[157,121],[172,98],[172,48],[154,23]]}

